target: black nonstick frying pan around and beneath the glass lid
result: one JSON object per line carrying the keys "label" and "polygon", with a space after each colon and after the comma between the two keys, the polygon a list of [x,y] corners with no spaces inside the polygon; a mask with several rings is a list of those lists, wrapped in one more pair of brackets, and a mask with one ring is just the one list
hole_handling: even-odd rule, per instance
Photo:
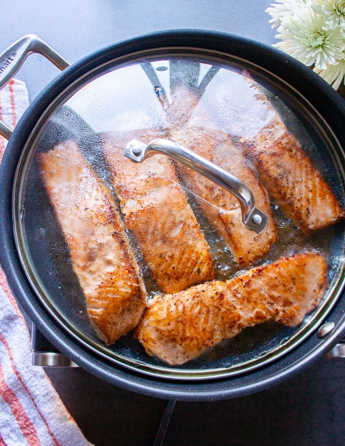
{"label": "black nonstick frying pan around and beneath the glass lid", "polygon": [[[16,48],[19,48],[18,45]],[[42,43],[36,49],[34,44],[29,43],[27,51],[33,50],[47,53]],[[16,51],[18,55],[21,52]],[[14,52],[12,50],[11,54]],[[287,106],[303,122],[304,129],[320,148],[315,162],[324,166],[324,173],[328,181],[335,184],[335,193],[343,204],[345,106],[343,100],[322,79],[294,59],[237,36],[194,30],[159,32],[109,46],[65,68],[29,106],[10,137],[0,170],[0,181],[4,185],[0,203],[0,233],[4,246],[1,263],[16,298],[44,336],[65,356],[96,376],[129,390],[163,398],[203,400],[245,395],[295,375],[342,338],[345,328],[343,267],[340,265],[336,272],[334,297],[285,351],[269,356],[268,360],[257,359],[265,356],[267,345],[270,345],[272,339],[277,339],[279,343],[282,339],[294,337],[294,331],[290,328],[266,324],[241,333],[225,347],[220,346],[216,355],[212,352],[209,356],[195,360],[187,366],[187,370],[192,370],[190,374],[181,374],[179,369],[163,373],[162,364],[154,358],[148,358],[130,335],[119,340],[111,350],[102,347],[94,338],[83,311],[82,292],[76,277],[71,273],[63,235],[56,227],[52,230],[54,216],[49,200],[39,175],[31,175],[36,169],[34,160],[31,163],[30,156],[27,156],[32,145],[37,146],[38,151],[46,151],[57,142],[74,138],[79,141],[85,155],[93,161],[92,151],[100,144],[101,133],[66,106],[66,99],[76,90],[75,85],[78,88],[86,85],[98,72],[107,72],[108,65],[114,69],[123,60],[140,60],[156,94],[157,88],[161,93],[162,86],[157,85],[150,64],[156,53],[160,58],[163,55],[178,55],[177,60],[184,60],[186,53],[193,58],[202,54],[205,58],[203,60],[210,56],[212,60],[217,59],[220,66],[222,61],[228,63],[230,58],[234,65],[250,67],[256,81],[264,89],[272,95],[284,97],[283,103],[278,101],[278,109]],[[54,57],[49,51],[48,54],[50,58]],[[188,69],[186,64],[174,65],[171,83],[179,79],[183,69]],[[209,71],[209,77],[200,84],[191,78],[188,88],[201,97],[218,69],[219,66],[215,64]],[[300,107],[301,104],[305,109],[313,110],[314,121],[305,117],[305,109]],[[289,124],[289,119],[287,122]],[[10,136],[11,132],[5,128],[3,133]],[[327,149],[328,140],[333,141],[336,147],[334,150]],[[29,168],[23,162],[25,157],[31,163]],[[95,169],[102,168],[99,163],[102,161],[97,160]],[[25,262],[23,264],[19,252],[21,246],[18,241],[16,243],[13,215],[17,206],[17,185],[25,176],[23,172],[26,177],[29,174],[32,178],[25,181],[25,187],[22,188],[24,200],[30,201],[29,206],[25,207],[27,248],[34,269],[48,288],[48,295],[55,296],[53,303],[38,296],[39,287],[25,271]],[[47,215],[51,217],[47,218]],[[330,241],[332,257],[343,254],[343,237],[343,224],[340,223],[334,229]],[[67,294],[68,301],[65,298]],[[273,346],[272,350],[276,347]],[[235,357],[240,357],[241,362],[250,365],[236,367],[232,362]],[[224,365],[226,373],[214,373],[214,370],[220,370]],[[201,375],[194,373],[195,370],[201,370]]]}

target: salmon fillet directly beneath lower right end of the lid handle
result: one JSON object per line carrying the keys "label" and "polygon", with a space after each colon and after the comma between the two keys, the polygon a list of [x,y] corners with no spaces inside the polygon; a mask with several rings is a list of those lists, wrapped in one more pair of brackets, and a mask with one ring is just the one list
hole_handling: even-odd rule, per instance
{"label": "salmon fillet directly beneath lower right end of the lid handle", "polygon": [[223,237],[235,261],[239,265],[250,265],[262,258],[274,244],[277,228],[271,214],[268,194],[244,157],[242,147],[235,145],[222,132],[196,127],[173,130],[170,137],[232,173],[251,190],[255,206],[268,216],[267,227],[260,234],[244,226],[239,202],[230,192],[189,167],[182,164],[178,166],[187,188],[197,195],[203,213]]}

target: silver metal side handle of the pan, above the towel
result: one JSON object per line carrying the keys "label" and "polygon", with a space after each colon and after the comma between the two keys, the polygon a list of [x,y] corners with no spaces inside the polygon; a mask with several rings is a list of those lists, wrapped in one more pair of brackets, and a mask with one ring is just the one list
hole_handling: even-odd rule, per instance
{"label": "silver metal side handle of the pan, above the towel", "polygon": [[[31,53],[42,54],[61,70],[70,65],[37,35],[27,34],[0,55],[0,89],[10,82]],[[0,121],[0,135],[10,139],[12,132],[10,127]]]}

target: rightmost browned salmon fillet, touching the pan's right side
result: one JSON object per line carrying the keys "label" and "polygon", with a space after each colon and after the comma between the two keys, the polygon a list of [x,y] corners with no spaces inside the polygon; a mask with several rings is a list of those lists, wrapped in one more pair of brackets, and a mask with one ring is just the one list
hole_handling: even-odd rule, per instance
{"label": "rightmost browned salmon fillet, touching the pan's right side", "polygon": [[329,185],[279,117],[262,129],[247,153],[273,201],[303,232],[325,228],[345,216]]}

